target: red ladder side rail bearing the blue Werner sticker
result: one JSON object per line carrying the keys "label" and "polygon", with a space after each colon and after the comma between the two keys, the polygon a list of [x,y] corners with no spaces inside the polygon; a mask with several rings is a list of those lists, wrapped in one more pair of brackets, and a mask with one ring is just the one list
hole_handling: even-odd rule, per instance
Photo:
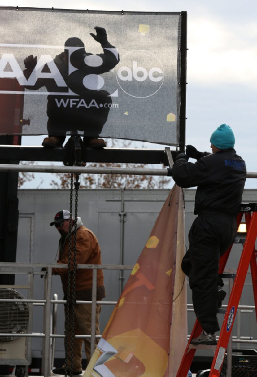
{"label": "red ladder side rail bearing the blue Werner sticker", "polygon": [[[236,317],[237,307],[243,291],[246,274],[251,261],[252,253],[254,252],[255,248],[255,241],[257,237],[257,212],[253,212],[252,216],[250,212],[246,213],[245,215],[246,226],[248,225],[246,240],[240,257],[239,266],[237,268],[233,288],[229,297],[228,307],[226,309],[226,314],[220,331],[209,377],[218,377],[220,375],[228,340]],[[250,222],[249,218],[251,218]]]}

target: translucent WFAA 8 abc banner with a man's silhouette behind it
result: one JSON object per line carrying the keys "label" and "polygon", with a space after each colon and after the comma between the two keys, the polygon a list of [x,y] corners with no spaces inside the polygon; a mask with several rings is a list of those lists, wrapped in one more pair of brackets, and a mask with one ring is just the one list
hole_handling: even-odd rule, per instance
{"label": "translucent WFAA 8 abc banner with a man's silhouette behind it", "polygon": [[181,20],[0,7],[0,135],[179,144]]}

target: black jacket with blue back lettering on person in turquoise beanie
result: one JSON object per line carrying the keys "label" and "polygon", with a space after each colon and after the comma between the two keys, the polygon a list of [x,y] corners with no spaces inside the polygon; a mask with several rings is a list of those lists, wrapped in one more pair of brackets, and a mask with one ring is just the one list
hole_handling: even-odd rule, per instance
{"label": "black jacket with blue back lettering on person in turquoise beanie", "polygon": [[238,214],[246,166],[233,148],[222,149],[215,154],[203,152],[194,164],[180,158],[174,163],[172,176],[180,187],[197,186],[195,215],[203,210]]}

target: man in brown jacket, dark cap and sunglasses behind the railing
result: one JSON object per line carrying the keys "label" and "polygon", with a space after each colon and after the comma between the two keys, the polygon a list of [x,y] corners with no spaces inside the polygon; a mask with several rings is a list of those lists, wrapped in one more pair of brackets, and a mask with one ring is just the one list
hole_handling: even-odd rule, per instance
{"label": "man in brown jacket, dark cap and sunglasses behind the railing", "polygon": [[[69,251],[69,218],[70,212],[67,210],[59,211],[55,215],[55,219],[50,225],[55,225],[58,232],[61,234],[59,241],[59,256],[57,263],[68,264]],[[72,242],[71,242],[71,269],[73,269],[73,244],[74,244],[74,220],[72,220]],[[77,241],[76,241],[76,262],[78,264],[102,264],[101,250],[96,239],[95,234],[83,226],[81,218],[77,218]],[[61,276],[63,284],[64,300],[67,298],[67,268],[53,268],[54,275]],[[78,269],[76,270],[75,283],[75,299],[81,301],[90,301],[92,299],[92,269]],[[72,276],[71,276],[72,281]],[[104,275],[101,269],[97,270],[97,290],[96,299],[99,301],[105,297]],[[96,326],[95,333],[100,335],[99,330],[99,314],[101,306],[96,305]],[[74,333],[75,335],[90,335],[91,334],[91,304],[75,304],[74,310]],[[69,322],[71,313],[69,316]],[[69,323],[69,332],[71,331],[71,323]],[[73,345],[73,375],[82,374],[81,352],[85,345],[87,362],[90,360],[90,340],[75,338]],[[68,342],[70,344],[70,341]],[[69,347],[69,345],[68,345]],[[70,374],[70,349],[68,349],[67,373]],[[53,370],[54,375],[64,375],[64,366]]]}

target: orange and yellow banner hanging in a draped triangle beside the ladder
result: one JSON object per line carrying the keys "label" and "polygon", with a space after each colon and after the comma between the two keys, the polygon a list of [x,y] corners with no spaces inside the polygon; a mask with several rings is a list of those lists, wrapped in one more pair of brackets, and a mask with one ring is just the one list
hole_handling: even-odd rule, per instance
{"label": "orange and yellow banner hanging in a draped triangle beside the ladder", "polygon": [[180,342],[185,346],[187,342],[187,326],[186,331],[171,326],[173,310],[177,311],[177,326],[187,323],[186,297],[184,305],[179,306],[182,301],[176,301],[185,276],[176,279],[178,287],[174,287],[176,254],[181,256],[179,259],[184,255],[183,206],[182,189],[175,185],[128,278],[84,377],[176,375],[173,371],[177,371],[185,350],[177,344]]}

